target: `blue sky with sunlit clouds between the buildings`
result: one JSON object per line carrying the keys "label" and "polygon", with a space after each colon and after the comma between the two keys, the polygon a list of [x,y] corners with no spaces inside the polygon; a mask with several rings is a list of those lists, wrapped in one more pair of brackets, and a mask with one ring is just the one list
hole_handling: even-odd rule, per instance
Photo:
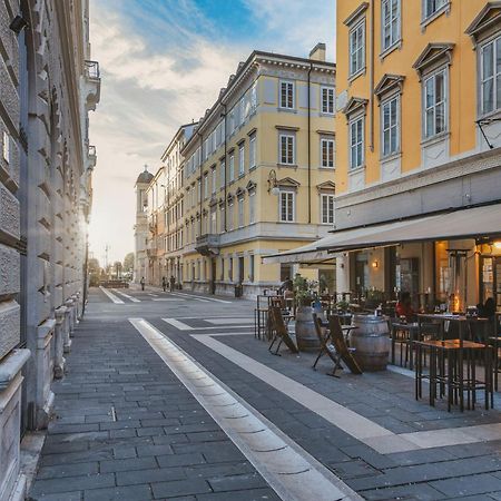
{"label": "blue sky with sunlit clouds between the buildings", "polygon": [[198,120],[255,49],[335,60],[335,0],[90,0],[101,99],[90,250],[101,265],[134,252],[137,176],[155,174],[177,128]]}

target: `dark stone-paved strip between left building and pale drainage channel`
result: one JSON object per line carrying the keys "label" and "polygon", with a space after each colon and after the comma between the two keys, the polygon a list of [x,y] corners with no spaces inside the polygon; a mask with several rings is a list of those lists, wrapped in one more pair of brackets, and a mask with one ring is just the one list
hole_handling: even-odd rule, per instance
{"label": "dark stone-paved strip between left building and pale drainage channel", "polygon": [[31,500],[276,500],[127,322],[75,333]]}

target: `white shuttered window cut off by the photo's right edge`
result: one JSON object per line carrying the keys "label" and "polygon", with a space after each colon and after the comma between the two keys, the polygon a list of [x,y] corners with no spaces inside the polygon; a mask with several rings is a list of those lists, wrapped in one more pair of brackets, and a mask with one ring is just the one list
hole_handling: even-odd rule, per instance
{"label": "white shuttered window cut off by the photo's right edge", "polygon": [[481,114],[501,109],[501,37],[480,49]]}

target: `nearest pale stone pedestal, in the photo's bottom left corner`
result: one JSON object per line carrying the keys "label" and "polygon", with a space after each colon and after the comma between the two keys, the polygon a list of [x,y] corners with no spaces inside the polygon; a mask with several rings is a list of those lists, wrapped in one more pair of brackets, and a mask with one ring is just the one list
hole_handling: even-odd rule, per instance
{"label": "nearest pale stone pedestal, in the photo's bottom left corner", "polygon": [[29,350],[13,350],[0,364],[0,499],[24,499],[26,478],[19,475],[22,366]]}

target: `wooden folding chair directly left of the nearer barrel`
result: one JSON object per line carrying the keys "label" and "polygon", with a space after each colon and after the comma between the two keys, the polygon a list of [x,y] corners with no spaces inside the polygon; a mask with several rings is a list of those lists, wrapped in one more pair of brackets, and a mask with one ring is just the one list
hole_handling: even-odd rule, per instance
{"label": "wooden folding chair directly left of the nearer barrel", "polygon": [[320,358],[324,354],[327,354],[334,362],[334,369],[328,375],[336,376],[336,371],[342,366],[341,362],[343,362],[353,374],[362,374],[362,370],[352,354],[355,350],[350,348],[346,345],[340,318],[335,315],[332,315],[328,318],[328,334],[326,335],[323,335],[322,333],[322,322],[316,314],[313,314],[313,321],[315,323],[316,335],[318,336],[318,340],[321,340],[321,350],[313,364],[313,369],[316,369]]}

